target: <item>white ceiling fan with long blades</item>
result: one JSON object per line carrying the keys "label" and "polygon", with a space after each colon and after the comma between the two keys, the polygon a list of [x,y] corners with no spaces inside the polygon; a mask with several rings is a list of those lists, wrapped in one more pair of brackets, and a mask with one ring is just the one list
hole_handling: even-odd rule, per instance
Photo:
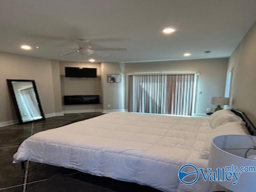
{"label": "white ceiling fan with long blades", "polygon": [[61,54],[60,56],[70,55],[74,53],[82,54],[82,55],[91,55],[91,54],[97,54],[99,56],[108,56],[109,54],[100,52],[100,51],[127,51],[127,48],[100,48],[100,47],[92,47],[92,45],[89,44],[89,40],[86,39],[77,39],[75,40],[78,44],[77,49],[68,48],[72,51]]}

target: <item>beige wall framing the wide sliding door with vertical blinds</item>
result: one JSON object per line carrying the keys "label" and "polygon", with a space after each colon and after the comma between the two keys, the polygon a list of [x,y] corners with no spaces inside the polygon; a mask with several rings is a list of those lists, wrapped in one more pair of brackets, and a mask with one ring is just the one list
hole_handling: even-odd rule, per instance
{"label": "beige wall framing the wide sliding door with vertical blinds", "polygon": [[216,107],[211,105],[212,96],[224,96],[227,66],[228,58],[126,63],[125,74],[134,72],[199,72],[195,112],[205,114],[206,108],[214,109]]}

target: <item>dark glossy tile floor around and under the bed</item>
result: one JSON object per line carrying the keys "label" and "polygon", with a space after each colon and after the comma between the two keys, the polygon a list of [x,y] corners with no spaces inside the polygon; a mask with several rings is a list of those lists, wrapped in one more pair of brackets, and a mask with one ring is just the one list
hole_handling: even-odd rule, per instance
{"label": "dark glossy tile floor around and under the bed", "polygon": [[[37,132],[57,128],[66,124],[85,120],[102,115],[100,112],[65,114],[47,118],[44,121],[24,125],[11,125],[0,127],[0,192],[22,192],[24,184],[24,172],[21,165],[12,163],[12,156],[16,152],[19,144],[30,135]],[[72,178],[90,182],[104,188],[112,189],[116,192],[159,192],[147,186],[117,181],[111,178],[92,176],[90,174],[78,172],[67,168],[50,166],[29,162],[28,178],[26,188],[29,189],[39,182],[44,182],[48,178],[56,175],[66,175]]]}

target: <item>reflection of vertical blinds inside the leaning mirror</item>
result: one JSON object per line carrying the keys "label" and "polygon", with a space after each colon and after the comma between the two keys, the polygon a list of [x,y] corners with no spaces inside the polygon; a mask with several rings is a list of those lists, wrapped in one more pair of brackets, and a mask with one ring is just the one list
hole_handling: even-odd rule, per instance
{"label": "reflection of vertical blinds inside the leaning mirror", "polygon": [[32,118],[41,117],[34,89],[28,88],[28,89],[21,90],[20,92],[24,100],[24,103],[26,104],[26,107],[30,112],[30,115],[32,116]]}

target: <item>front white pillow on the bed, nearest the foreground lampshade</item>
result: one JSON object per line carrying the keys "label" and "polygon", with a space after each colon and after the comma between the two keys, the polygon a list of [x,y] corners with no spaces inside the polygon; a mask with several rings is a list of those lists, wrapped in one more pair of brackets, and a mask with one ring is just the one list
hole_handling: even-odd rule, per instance
{"label": "front white pillow on the bed, nearest the foreground lampshade", "polygon": [[204,142],[204,147],[200,152],[199,156],[203,159],[208,159],[210,155],[210,148],[212,145],[212,140],[216,136],[220,135],[250,135],[244,122],[230,122],[224,124],[216,129],[212,129]]}

